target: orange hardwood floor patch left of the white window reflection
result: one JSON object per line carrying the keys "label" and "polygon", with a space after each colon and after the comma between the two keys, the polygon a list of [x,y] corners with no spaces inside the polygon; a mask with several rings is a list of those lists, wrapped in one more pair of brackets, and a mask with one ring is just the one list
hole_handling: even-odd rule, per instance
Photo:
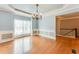
{"label": "orange hardwood floor patch left of the white window reflection", "polygon": [[12,45],[13,41],[9,41],[6,43],[1,43],[0,44],[0,54],[9,54],[12,52],[13,49],[13,45]]}

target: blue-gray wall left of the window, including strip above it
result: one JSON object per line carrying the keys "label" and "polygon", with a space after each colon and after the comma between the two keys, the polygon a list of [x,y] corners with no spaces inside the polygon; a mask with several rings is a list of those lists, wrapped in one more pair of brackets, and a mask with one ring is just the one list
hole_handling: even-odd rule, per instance
{"label": "blue-gray wall left of the window, including strip above it", "polygon": [[0,11],[0,31],[14,31],[14,19],[29,20],[30,17],[14,15],[12,13]]}

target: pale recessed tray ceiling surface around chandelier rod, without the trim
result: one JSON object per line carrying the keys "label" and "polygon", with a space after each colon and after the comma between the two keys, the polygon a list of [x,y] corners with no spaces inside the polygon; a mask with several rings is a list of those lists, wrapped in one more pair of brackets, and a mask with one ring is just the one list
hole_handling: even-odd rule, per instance
{"label": "pale recessed tray ceiling surface around chandelier rod, without the trim", "polygon": [[[35,4],[12,4],[15,8],[18,8],[27,12],[36,12]],[[39,12],[47,13],[49,11],[54,11],[60,9],[64,4],[39,4]],[[9,9],[8,4],[0,4],[0,8]]]}

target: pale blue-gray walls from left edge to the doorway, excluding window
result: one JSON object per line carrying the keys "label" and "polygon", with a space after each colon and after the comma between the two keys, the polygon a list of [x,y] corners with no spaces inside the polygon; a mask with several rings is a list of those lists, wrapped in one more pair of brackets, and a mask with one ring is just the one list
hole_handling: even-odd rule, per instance
{"label": "pale blue-gray walls from left edge to the doorway, excluding window", "polygon": [[[30,17],[0,12],[0,31],[14,31],[14,19],[29,20]],[[55,16],[44,16],[41,20],[33,20],[32,28],[40,30],[40,34],[55,38]]]}

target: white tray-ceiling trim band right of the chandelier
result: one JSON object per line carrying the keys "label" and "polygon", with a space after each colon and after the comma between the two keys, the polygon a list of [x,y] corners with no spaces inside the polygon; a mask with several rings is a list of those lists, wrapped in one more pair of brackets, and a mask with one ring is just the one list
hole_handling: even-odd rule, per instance
{"label": "white tray-ceiling trim band right of the chandelier", "polygon": [[79,10],[79,7],[73,7],[73,8],[67,8],[69,7],[69,4],[67,5],[64,5],[62,8],[56,10],[56,11],[51,11],[51,12],[48,12],[46,14],[44,14],[44,16],[49,16],[49,15],[63,15],[63,14],[67,14],[67,13],[71,13],[72,10],[74,10],[73,12],[78,12]]}

